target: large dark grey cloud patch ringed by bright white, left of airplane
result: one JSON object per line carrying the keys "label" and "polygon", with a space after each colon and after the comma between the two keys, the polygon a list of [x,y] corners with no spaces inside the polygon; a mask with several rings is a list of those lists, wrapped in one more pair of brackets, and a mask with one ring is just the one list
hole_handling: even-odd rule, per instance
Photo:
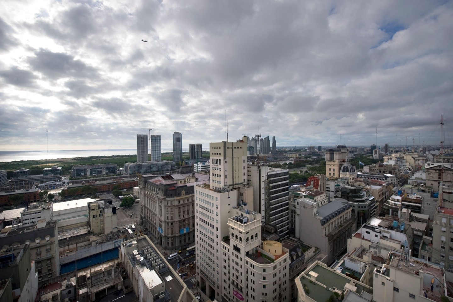
{"label": "large dark grey cloud patch ringed by bright white, left of airplane", "polygon": [[51,79],[97,77],[95,68],[87,66],[80,60],[75,60],[73,56],[66,53],[53,53],[45,49],[40,49],[35,52],[34,57],[29,58],[28,62],[34,70],[41,72],[44,76]]}

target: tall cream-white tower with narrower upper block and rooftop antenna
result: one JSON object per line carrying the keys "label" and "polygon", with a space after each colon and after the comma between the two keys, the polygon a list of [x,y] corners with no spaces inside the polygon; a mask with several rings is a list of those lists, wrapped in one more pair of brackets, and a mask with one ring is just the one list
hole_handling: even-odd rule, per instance
{"label": "tall cream-white tower with narrower upper block and rooftop antenna", "polygon": [[209,144],[210,184],[195,187],[195,245],[197,281],[208,297],[222,300],[222,238],[228,237],[231,208],[253,192],[247,186],[247,145],[244,142]]}

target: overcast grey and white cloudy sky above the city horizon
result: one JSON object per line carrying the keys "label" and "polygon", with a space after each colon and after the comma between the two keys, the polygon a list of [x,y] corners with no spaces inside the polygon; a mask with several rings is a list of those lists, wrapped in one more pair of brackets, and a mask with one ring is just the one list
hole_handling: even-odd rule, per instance
{"label": "overcast grey and white cloudy sky above the city horizon", "polygon": [[453,1],[1,0],[0,150],[207,146],[226,118],[229,140],[439,144],[441,114],[451,144],[452,50]]}

